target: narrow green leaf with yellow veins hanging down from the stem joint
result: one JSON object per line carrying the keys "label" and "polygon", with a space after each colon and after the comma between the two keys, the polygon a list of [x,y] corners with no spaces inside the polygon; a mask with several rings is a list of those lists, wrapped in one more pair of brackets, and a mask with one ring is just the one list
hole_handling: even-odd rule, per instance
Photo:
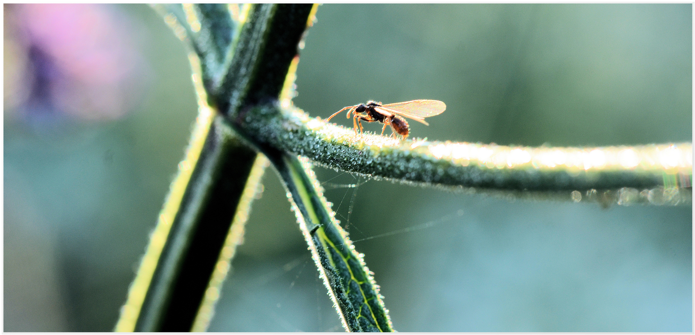
{"label": "narrow green leaf with yellow veins hanging down from the stem joint", "polygon": [[268,158],[291,194],[293,211],[345,330],[393,332],[373,273],[336,222],[309,163],[278,151]]}

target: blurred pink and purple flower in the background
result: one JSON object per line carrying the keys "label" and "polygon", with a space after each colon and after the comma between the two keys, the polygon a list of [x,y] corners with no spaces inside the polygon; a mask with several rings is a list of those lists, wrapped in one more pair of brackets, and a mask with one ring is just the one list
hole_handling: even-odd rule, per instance
{"label": "blurred pink and purple flower in the background", "polygon": [[117,119],[140,101],[147,71],[124,15],[95,4],[31,3],[15,9],[28,57],[24,80],[33,76],[26,113]]}

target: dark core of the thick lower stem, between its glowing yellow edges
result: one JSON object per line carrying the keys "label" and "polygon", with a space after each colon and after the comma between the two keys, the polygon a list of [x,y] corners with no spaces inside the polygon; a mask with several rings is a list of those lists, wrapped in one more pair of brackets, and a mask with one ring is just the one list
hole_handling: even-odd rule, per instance
{"label": "dark core of the thick lower stem, between its glowing yellow edges", "polygon": [[[216,117],[174,217],[136,332],[189,332],[256,152]],[[247,209],[240,209],[247,210]],[[243,224],[243,223],[242,223]]]}

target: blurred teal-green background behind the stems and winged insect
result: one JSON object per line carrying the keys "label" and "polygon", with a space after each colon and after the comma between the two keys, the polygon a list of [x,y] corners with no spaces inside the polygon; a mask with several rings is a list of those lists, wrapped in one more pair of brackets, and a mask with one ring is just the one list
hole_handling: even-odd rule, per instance
{"label": "blurred teal-green background behind the stems and winged insect", "polygon": [[[4,9],[3,330],[108,332],[197,112],[186,51],[145,5]],[[447,111],[413,136],[692,141],[691,4],[327,4],[317,17],[295,98],[312,116],[430,98]],[[401,332],[692,332],[688,206],[317,174]],[[272,168],[263,184],[209,330],[341,331]]]}

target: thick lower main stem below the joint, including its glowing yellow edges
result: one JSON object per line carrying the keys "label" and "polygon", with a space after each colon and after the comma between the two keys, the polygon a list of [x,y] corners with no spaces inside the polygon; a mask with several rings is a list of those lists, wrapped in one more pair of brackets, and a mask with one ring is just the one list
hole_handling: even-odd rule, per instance
{"label": "thick lower main stem below the joint, including its glowing yellow edges", "polygon": [[206,315],[212,313],[214,301],[206,293],[220,284],[210,281],[234,254],[253,198],[248,194],[258,188],[254,175],[263,173],[254,164],[257,154],[213,115],[201,108],[117,332],[188,332],[202,305]]}

